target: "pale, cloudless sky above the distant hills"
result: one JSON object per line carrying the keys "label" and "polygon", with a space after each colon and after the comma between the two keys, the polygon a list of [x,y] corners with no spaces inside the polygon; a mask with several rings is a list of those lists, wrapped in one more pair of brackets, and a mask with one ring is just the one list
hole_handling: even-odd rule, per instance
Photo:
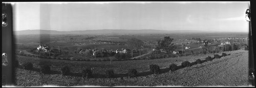
{"label": "pale, cloudless sky above the distant hills", "polygon": [[15,30],[248,32],[249,2],[15,3]]}

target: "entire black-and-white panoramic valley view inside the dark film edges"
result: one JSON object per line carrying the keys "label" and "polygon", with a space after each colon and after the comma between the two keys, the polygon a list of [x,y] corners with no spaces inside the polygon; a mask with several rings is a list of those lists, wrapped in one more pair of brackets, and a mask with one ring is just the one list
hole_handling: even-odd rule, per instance
{"label": "entire black-and-white panoramic valley view inside the dark film edges", "polygon": [[249,86],[249,4],[14,3],[14,86]]}

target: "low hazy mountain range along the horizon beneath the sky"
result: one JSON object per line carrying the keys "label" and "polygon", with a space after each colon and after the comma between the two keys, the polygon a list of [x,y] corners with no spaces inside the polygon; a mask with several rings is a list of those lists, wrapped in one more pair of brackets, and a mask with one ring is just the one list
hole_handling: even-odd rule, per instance
{"label": "low hazy mountain range along the horizon beneath the sky", "polygon": [[125,34],[177,34],[177,33],[219,33],[214,31],[193,30],[84,30],[84,31],[53,31],[53,30],[23,30],[15,31],[16,35],[51,34],[51,35],[125,35]]}

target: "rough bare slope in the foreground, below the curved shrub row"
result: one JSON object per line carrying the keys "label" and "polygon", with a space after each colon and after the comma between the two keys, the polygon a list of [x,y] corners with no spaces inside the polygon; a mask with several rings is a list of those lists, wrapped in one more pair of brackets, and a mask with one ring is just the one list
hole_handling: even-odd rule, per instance
{"label": "rough bare slope in the foreground, below the curved shrub row", "polygon": [[[247,86],[248,51],[226,52],[231,55],[216,58],[203,64],[159,75],[135,78],[90,78],[83,79],[60,74],[42,75],[38,72],[17,68],[17,86]],[[220,53],[219,53],[220,54]],[[187,58],[190,58],[187,56]]]}

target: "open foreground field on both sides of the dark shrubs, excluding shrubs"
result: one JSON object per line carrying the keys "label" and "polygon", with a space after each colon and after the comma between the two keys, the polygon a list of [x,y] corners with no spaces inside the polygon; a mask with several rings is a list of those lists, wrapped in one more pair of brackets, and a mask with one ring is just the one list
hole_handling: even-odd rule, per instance
{"label": "open foreground field on both sides of the dark shrubs, excluding shrubs", "polygon": [[[248,51],[228,51],[231,54],[221,58],[215,58],[210,62],[196,64],[191,67],[169,72],[171,63],[181,65],[182,61],[195,62],[198,58],[204,60],[208,55],[190,55],[176,58],[163,58],[159,60],[138,60],[138,61],[115,61],[112,62],[86,62],[86,61],[65,61],[51,60],[45,58],[33,58],[28,56],[17,56],[20,64],[25,62],[51,65],[52,74],[40,74],[35,71],[28,71],[16,68],[17,86],[76,86],[76,85],[100,85],[100,86],[247,86],[248,85]],[[221,53],[218,53],[221,54]],[[154,75],[148,73],[149,65],[157,64],[162,73]],[[77,75],[61,76],[60,68],[69,66],[71,72]],[[94,78],[83,79],[79,76],[82,69],[93,69]],[[124,75],[128,69],[133,68],[139,72],[138,77],[126,78]],[[107,69],[114,69],[116,78],[104,78],[103,72]]]}

